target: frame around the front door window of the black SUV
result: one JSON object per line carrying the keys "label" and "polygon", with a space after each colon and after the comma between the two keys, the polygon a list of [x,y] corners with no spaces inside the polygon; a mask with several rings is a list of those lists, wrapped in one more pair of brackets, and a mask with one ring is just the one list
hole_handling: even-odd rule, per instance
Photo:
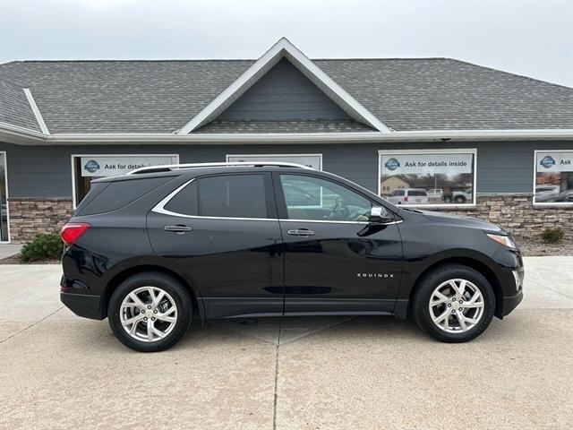
{"label": "frame around the front door window of the black SUV", "polygon": [[280,175],[287,175],[287,176],[310,176],[312,178],[321,179],[323,181],[331,182],[332,184],[342,186],[346,188],[348,191],[352,193],[356,193],[366,199],[368,202],[371,202],[372,207],[374,206],[381,206],[384,208],[384,211],[387,211],[391,214],[395,220],[392,223],[401,222],[396,219],[396,214],[394,211],[391,211],[385,204],[381,204],[381,202],[376,202],[372,199],[371,196],[362,192],[362,190],[358,190],[355,187],[348,186],[343,182],[336,181],[333,178],[328,176],[321,176],[315,175],[311,172],[273,172],[272,174],[272,181],[275,189],[275,195],[277,199],[277,208],[278,208],[278,220],[281,222],[318,222],[318,223],[331,223],[331,224],[357,224],[357,225],[368,225],[371,224],[370,221],[339,221],[339,220],[329,220],[329,219],[290,219],[288,218],[288,209],[286,206],[286,199],[285,194],[283,193],[282,182],[280,180]]}

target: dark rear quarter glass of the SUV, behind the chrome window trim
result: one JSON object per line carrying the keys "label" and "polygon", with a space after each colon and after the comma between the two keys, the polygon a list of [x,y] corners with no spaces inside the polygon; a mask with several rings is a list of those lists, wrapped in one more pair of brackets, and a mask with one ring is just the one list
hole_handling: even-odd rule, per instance
{"label": "dark rear quarter glass of the SUV, behind the chrome window trim", "polygon": [[[80,206],[78,206],[76,214],[93,215],[95,213],[116,211],[123,208],[126,204],[139,199],[143,194],[147,194],[158,186],[165,184],[171,179],[173,179],[173,176],[114,181],[109,185],[102,183],[102,185],[107,186],[95,195],[93,199],[89,199],[88,197],[90,196],[90,193],[97,191],[96,189],[91,190]],[[100,188],[97,187],[97,189]],[[84,202],[85,205],[83,204]]]}

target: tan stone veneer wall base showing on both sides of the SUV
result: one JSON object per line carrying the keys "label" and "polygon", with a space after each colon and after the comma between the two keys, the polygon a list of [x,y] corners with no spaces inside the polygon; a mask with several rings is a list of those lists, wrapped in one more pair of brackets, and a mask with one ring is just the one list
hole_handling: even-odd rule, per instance
{"label": "tan stone veneer wall base showing on both sides of the SUV", "polygon": [[[572,206],[534,206],[531,194],[478,195],[475,207],[440,207],[444,211],[490,220],[507,228],[512,235],[536,237],[543,228],[560,227],[568,240],[573,239]],[[59,233],[72,216],[69,199],[10,199],[10,235],[13,243],[30,240],[38,233]]]}

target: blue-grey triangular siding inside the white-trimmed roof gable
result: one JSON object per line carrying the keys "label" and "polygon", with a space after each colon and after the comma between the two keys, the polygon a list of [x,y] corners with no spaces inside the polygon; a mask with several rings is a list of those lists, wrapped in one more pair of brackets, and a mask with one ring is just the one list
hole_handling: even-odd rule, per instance
{"label": "blue-grey triangular siding inside the white-trimmed roof gable", "polygon": [[350,119],[303,73],[283,58],[219,120]]}

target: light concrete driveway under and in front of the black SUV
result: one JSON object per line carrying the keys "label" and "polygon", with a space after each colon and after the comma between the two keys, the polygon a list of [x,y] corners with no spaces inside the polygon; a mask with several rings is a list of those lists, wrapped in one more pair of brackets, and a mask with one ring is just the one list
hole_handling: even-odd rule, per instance
{"label": "light concrete driveway under and in front of the black SUV", "polygon": [[158,354],[0,266],[0,428],[570,428],[573,257],[526,258],[526,298],[470,343],[391,317],[221,321]]}

